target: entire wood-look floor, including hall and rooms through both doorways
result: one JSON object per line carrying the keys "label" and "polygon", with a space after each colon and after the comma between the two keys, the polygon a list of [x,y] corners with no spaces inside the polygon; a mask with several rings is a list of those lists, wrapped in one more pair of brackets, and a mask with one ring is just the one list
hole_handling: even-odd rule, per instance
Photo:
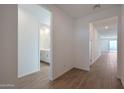
{"label": "entire wood-look floor, including hall and rooms through both doorways", "polygon": [[48,81],[48,68],[41,65],[41,71],[23,77],[18,81],[18,88],[51,88],[51,89],[121,89],[122,84],[116,78],[116,53],[103,54],[92,66],[89,72],[72,69],[50,82]]}

